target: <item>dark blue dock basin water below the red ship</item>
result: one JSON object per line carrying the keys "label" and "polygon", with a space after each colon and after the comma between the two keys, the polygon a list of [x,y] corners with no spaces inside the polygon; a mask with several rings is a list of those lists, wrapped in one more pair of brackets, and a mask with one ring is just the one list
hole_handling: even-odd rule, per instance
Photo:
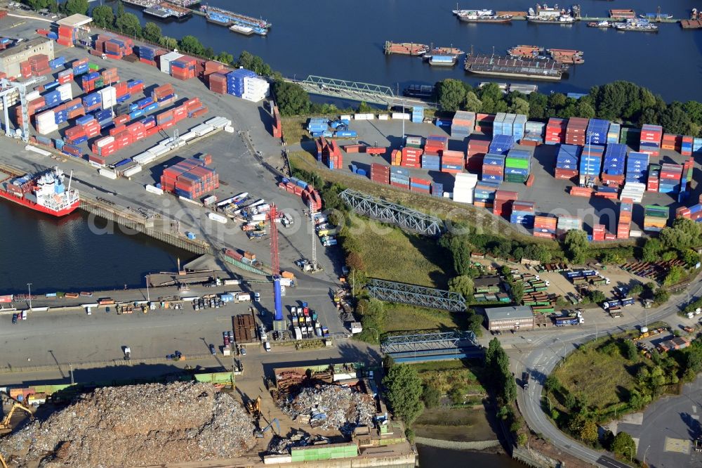
{"label": "dark blue dock basin water below the red ship", "polygon": [[0,199],[0,226],[0,294],[27,292],[27,282],[39,294],[140,287],[146,273],[176,271],[178,256],[192,258],[79,210],[55,218]]}

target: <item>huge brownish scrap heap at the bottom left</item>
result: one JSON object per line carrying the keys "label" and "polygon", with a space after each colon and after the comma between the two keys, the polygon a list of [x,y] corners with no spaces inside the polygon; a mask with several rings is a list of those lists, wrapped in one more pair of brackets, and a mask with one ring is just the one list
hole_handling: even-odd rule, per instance
{"label": "huge brownish scrap heap at the bottom left", "polygon": [[[126,467],[231,458],[256,445],[253,421],[211,384],[95,389],[0,441],[44,467]],[[29,463],[31,464],[31,463]]]}

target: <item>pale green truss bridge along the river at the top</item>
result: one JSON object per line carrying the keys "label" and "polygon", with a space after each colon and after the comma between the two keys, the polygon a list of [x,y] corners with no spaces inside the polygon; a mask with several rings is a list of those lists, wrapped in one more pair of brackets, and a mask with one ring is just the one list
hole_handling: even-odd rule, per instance
{"label": "pale green truss bridge along the river at the top", "polygon": [[392,91],[392,88],[383,86],[382,84],[350,82],[345,79],[317,77],[314,74],[310,74],[310,76],[302,80],[286,78],[285,81],[296,83],[307,91],[307,93],[318,94],[319,96],[357,100],[359,102],[362,101],[387,106],[420,105],[425,108],[437,108],[434,103],[416,98],[397,96],[395,92]]}

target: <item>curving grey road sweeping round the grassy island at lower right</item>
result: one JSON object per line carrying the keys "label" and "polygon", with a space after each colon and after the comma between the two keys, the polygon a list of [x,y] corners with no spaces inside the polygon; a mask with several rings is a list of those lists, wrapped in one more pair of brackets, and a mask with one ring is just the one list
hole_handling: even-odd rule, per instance
{"label": "curving grey road sweeping round the grassy island at lower right", "polygon": [[[691,283],[688,290],[691,291],[692,288],[696,289],[694,292],[690,292],[689,297],[699,297],[702,293],[702,280],[696,280]],[[649,323],[656,320],[673,319],[680,307],[687,303],[687,298],[687,295],[682,295],[675,301],[669,301],[660,310],[649,314]],[[671,320],[667,321],[670,323]],[[616,327],[602,330],[596,330],[592,326],[582,326],[578,327],[577,331],[559,334],[557,337],[550,335],[534,339],[529,349],[522,347],[521,349],[524,351],[517,350],[519,354],[516,356],[515,353],[510,353],[512,364],[515,366],[515,376],[520,379],[519,382],[521,382],[522,372],[529,372],[531,376],[529,390],[521,390],[517,395],[517,405],[519,405],[519,409],[529,428],[536,434],[542,434],[545,438],[548,438],[550,443],[556,448],[585,462],[605,468],[628,467],[627,464],[618,462],[602,452],[584,446],[555,427],[550,418],[541,409],[541,400],[543,399],[541,394],[546,376],[552,372],[559,360],[564,358],[574,346],[594,339],[596,333],[619,332],[638,324],[638,320],[630,320],[618,323]],[[546,404],[548,405],[548,401]]]}

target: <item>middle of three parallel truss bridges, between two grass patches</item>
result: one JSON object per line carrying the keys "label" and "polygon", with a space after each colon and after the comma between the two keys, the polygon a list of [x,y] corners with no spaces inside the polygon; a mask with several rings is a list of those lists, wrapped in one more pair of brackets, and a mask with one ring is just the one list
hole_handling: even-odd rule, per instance
{"label": "middle of three parallel truss bridges, between two grass patches", "polygon": [[465,312],[465,299],[458,292],[436,290],[432,287],[409,285],[404,282],[369,278],[366,289],[380,301],[411,304],[449,312]]}

